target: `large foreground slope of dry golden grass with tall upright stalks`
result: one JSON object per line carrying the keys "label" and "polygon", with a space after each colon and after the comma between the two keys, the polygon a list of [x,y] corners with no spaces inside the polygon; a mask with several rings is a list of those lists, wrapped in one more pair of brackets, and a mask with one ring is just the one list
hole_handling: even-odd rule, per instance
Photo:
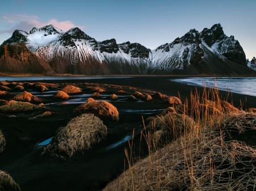
{"label": "large foreground slope of dry golden grass with tall upright stalks", "polygon": [[[134,164],[132,150],[125,150],[128,169],[104,190],[255,190],[256,147],[234,136],[255,131],[256,114],[226,113],[218,95],[217,88],[205,89],[201,96],[191,93],[189,112],[186,101],[180,108],[183,114],[146,120],[151,121],[142,132],[147,158]],[[194,118],[192,125],[187,114]],[[174,141],[168,143],[170,139]]]}

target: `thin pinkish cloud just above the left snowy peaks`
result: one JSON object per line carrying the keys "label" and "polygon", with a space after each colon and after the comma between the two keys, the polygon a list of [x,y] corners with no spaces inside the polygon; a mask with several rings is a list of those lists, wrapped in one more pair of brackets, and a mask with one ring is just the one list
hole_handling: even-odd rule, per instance
{"label": "thin pinkish cloud just above the left snowy peaks", "polygon": [[29,32],[33,27],[41,28],[49,24],[52,24],[53,26],[63,31],[67,31],[74,27],[79,27],[80,29],[86,29],[86,27],[84,26],[76,26],[76,24],[72,23],[69,20],[59,22],[57,19],[49,19],[48,22],[40,22],[38,16],[27,15],[27,14],[23,14],[23,15],[4,14],[2,16],[1,22],[9,23],[12,25],[14,24],[14,26],[9,29],[0,31],[0,33],[13,33],[15,29]]}

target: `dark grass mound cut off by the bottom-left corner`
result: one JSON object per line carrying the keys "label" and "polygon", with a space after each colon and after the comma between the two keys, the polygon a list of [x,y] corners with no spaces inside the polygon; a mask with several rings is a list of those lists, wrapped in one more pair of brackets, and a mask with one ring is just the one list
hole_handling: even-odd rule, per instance
{"label": "dark grass mound cut off by the bottom-left corner", "polygon": [[0,171],[0,190],[1,191],[20,191],[19,185],[13,178],[4,171]]}

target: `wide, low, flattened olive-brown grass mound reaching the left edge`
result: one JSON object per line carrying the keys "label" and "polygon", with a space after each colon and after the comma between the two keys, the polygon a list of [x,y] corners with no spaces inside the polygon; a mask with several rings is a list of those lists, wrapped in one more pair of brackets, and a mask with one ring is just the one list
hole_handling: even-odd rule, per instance
{"label": "wide, low, flattened olive-brown grass mound reaching the left edge", "polygon": [[9,101],[6,105],[0,106],[1,112],[29,112],[38,111],[41,107],[22,101]]}

